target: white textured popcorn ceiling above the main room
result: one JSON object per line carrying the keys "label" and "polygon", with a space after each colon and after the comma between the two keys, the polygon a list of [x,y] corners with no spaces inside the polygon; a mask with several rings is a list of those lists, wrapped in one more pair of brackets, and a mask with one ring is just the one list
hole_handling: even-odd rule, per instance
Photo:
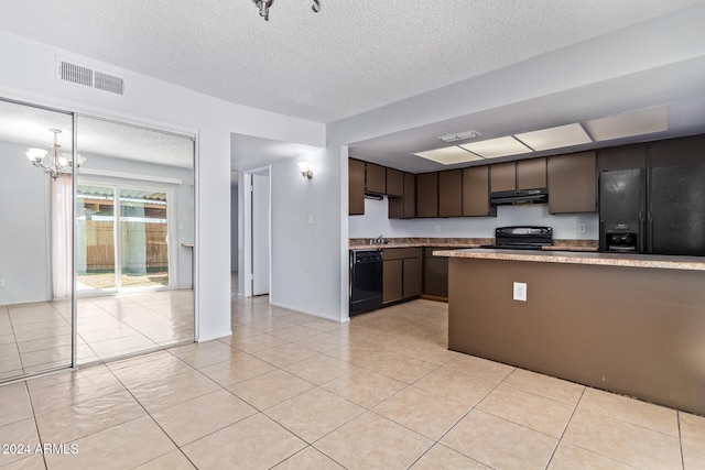
{"label": "white textured popcorn ceiling above the main room", "polygon": [[317,122],[491,72],[697,0],[2,0],[0,29]]}

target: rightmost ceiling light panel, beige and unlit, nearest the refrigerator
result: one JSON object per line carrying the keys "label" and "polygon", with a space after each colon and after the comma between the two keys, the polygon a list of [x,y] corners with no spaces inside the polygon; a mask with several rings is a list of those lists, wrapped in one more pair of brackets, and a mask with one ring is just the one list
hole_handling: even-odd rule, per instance
{"label": "rightmost ceiling light panel, beige and unlit, nearest the refrigerator", "polygon": [[669,130],[669,107],[642,109],[585,122],[593,138],[600,141],[650,134]]}

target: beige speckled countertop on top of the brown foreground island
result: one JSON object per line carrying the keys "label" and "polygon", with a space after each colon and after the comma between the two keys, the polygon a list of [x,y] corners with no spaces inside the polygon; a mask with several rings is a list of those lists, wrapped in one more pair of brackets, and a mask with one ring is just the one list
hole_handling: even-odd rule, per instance
{"label": "beige speckled countertop on top of the brown foreground island", "polygon": [[540,263],[594,264],[603,266],[657,267],[662,270],[705,271],[705,256],[666,256],[575,251],[533,250],[436,250],[436,256],[481,260],[533,261]]}

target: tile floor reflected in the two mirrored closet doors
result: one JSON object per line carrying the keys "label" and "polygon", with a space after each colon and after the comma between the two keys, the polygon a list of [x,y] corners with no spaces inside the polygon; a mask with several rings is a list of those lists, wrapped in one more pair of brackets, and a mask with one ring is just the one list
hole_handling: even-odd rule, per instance
{"label": "tile floor reflected in the two mirrored closet doors", "polygon": [[[192,289],[80,298],[77,361],[193,341]],[[0,306],[0,381],[70,365],[68,300]]]}

